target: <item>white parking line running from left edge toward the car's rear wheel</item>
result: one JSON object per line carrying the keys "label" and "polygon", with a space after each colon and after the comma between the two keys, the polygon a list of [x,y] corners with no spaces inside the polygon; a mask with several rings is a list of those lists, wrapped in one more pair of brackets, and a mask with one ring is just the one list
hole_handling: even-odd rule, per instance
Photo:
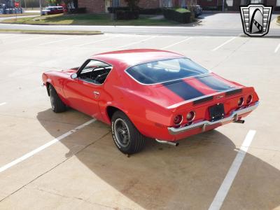
{"label": "white parking line running from left edge toward the car's rear wheel", "polygon": [[9,169],[10,167],[13,167],[14,165],[17,165],[18,163],[22,162],[23,160],[27,160],[27,158],[30,158],[31,156],[35,155],[36,153],[39,153],[39,152],[43,151],[45,148],[48,148],[49,146],[52,146],[52,144],[55,144],[58,141],[61,141],[65,137],[68,137],[69,135],[73,134],[74,132],[77,132],[81,128],[83,128],[87,125],[90,125],[90,123],[94,123],[95,121],[96,121],[96,119],[92,119],[90,121],[87,121],[83,125],[80,125],[80,126],[74,128],[73,130],[71,130],[69,132],[66,132],[65,134],[62,134],[60,137],[57,137],[57,138],[53,139],[52,141],[49,141],[48,143],[44,144],[43,146],[40,146],[40,147],[34,149],[34,151],[31,151],[31,152],[23,155],[22,157],[20,157],[18,159],[15,159],[12,162],[4,165],[3,167],[0,167],[0,173],[6,171],[6,169]]}

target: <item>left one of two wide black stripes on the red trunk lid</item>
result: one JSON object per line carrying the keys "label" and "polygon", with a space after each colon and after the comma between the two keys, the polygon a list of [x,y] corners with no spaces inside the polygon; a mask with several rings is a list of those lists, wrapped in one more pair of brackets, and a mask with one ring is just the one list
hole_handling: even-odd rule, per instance
{"label": "left one of two wide black stripes on the red trunk lid", "polygon": [[165,85],[165,87],[167,87],[169,90],[171,90],[172,92],[179,95],[179,97],[185,100],[195,99],[197,97],[204,96],[202,92],[195,89],[195,87],[189,85],[188,83],[185,83],[183,80],[177,80],[176,83],[162,83],[162,85]]}

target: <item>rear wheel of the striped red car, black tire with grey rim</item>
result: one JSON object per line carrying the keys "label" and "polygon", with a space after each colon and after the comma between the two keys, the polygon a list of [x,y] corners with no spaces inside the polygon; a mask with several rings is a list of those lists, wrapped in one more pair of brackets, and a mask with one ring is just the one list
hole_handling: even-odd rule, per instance
{"label": "rear wheel of the striped red car, black tire with grey rim", "polygon": [[130,155],[144,148],[146,137],[137,130],[125,113],[121,111],[113,113],[111,128],[113,141],[122,153]]}

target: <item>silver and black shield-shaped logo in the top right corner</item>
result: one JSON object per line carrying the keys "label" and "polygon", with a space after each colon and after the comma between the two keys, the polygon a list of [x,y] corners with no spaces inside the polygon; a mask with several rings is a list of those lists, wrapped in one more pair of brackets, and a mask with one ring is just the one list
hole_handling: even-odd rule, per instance
{"label": "silver and black shield-shaped logo in the top right corner", "polygon": [[272,6],[249,4],[240,6],[243,31],[248,36],[265,36],[269,31]]}

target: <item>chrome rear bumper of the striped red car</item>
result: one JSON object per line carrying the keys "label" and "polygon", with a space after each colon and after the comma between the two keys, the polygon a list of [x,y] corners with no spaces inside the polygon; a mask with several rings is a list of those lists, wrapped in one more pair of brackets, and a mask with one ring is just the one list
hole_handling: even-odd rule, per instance
{"label": "chrome rear bumper of the striped red car", "polygon": [[228,122],[228,121],[232,121],[232,122],[237,121],[238,117],[240,115],[242,115],[244,113],[248,113],[250,111],[253,111],[255,108],[258,107],[258,104],[259,104],[259,102],[255,102],[255,104],[253,104],[251,106],[248,106],[248,107],[246,107],[244,109],[238,109],[236,111],[232,111],[231,115],[228,116],[228,118],[223,118],[221,120],[216,120],[214,122],[205,120],[205,121],[202,121],[200,123],[195,123],[195,124],[192,124],[192,125],[188,125],[186,127],[179,127],[179,128],[168,127],[168,131],[169,131],[169,134],[176,135],[176,134],[181,134],[183,132],[186,132],[188,130],[193,130],[193,129],[201,127],[202,128],[202,132],[204,132],[206,127],[209,126],[209,125],[216,125],[218,123],[225,123],[225,122]]}

